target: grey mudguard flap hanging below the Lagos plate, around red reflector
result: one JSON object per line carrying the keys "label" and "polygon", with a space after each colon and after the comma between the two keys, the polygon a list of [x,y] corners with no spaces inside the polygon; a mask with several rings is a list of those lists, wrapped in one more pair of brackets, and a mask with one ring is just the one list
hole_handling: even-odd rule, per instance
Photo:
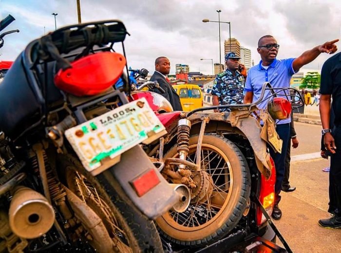
{"label": "grey mudguard flap hanging below the Lagos plate, around red reflector", "polygon": [[[141,192],[136,191],[133,183],[148,172],[156,175],[159,183],[141,196]],[[123,190],[133,204],[151,219],[169,211],[179,200],[170,184],[162,177],[139,145],[124,152],[121,155],[121,161],[104,171],[103,176],[116,191],[122,192]]]}

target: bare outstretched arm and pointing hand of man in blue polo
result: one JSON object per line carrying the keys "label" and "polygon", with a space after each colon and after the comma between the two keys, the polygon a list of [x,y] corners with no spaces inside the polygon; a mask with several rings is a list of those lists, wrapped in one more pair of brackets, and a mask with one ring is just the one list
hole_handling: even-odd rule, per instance
{"label": "bare outstretched arm and pointing hand of man in blue polo", "polygon": [[319,56],[321,53],[334,54],[338,50],[338,47],[335,45],[335,43],[338,41],[339,39],[327,41],[320,46],[316,46],[313,49],[305,51],[292,62],[292,68],[296,72],[305,64],[308,64],[309,62],[315,60],[317,56]]}

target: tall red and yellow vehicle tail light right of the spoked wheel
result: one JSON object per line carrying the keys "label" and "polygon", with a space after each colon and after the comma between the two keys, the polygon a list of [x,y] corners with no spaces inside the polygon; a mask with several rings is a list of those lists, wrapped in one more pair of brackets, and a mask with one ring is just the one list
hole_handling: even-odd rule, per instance
{"label": "tall red and yellow vehicle tail light right of the spoked wheel", "polygon": [[[275,200],[275,183],[276,183],[276,169],[275,163],[270,157],[271,163],[271,176],[269,180],[266,180],[263,175],[261,175],[261,192],[259,195],[259,201],[262,203],[268,215],[272,214],[274,200]],[[262,210],[257,207],[257,226],[263,224],[266,218],[262,213]]]}

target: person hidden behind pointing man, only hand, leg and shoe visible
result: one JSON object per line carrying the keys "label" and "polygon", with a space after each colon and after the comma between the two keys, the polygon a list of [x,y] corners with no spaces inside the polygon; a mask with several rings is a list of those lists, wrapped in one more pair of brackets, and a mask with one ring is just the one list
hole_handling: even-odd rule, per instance
{"label": "person hidden behind pointing man, only hand, leg and shoe visible", "polygon": [[[291,111],[291,122],[290,122],[290,139],[292,142],[292,147],[297,148],[299,145],[299,141],[296,136],[295,125],[294,125],[294,117]],[[290,161],[291,161],[291,144],[288,142],[286,148],[286,157],[285,157],[285,168],[284,168],[284,178],[282,182],[282,191],[284,192],[293,192],[296,190],[296,187],[290,186],[289,177],[290,177]]]}

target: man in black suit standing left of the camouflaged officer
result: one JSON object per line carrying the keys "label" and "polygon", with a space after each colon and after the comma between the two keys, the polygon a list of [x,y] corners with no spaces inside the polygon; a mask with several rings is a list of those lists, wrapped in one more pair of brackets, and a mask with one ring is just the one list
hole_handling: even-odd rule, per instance
{"label": "man in black suit standing left of the camouflaged officer", "polygon": [[157,89],[153,91],[164,96],[171,104],[174,110],[182,110],[179,95],[170,85],[170,81],[167,78],[167,74],[170,73],[170,60],[165,57],[157,57],[155,60],[155,72],[151,77],[151,81],[157,81],[162,89],[166,92],[162,93]]}

